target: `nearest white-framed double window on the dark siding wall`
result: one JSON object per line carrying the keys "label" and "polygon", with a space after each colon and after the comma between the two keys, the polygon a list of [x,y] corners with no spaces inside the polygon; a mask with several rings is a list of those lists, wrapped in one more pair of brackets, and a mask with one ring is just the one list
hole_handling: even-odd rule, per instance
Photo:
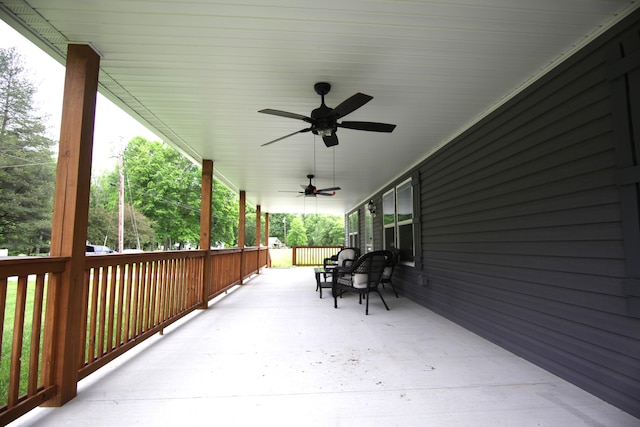
{"label": "nearest white-framed double window on the dark siding wall", "polygon": [[382,198],[384,248],[397,248],[400,251],[400,262],[414,264],[415,245],[413,187],[411,179],[404,181]]}

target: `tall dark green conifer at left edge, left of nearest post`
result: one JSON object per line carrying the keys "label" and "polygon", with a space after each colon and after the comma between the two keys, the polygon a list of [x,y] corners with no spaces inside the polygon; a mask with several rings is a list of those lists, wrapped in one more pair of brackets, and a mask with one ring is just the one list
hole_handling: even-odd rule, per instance
{"label": "tall dark green conifer at left edge, left of nearest post", "polygon": [[31,254],[51,235],[55,142],[35,113],[19,53],[0,49],[0,246]]}

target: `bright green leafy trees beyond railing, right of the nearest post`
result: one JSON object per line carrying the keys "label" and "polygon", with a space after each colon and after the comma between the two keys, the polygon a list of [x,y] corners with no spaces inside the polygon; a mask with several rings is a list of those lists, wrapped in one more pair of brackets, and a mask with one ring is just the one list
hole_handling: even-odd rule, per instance
{"label": "bright green leafy trees beyond railing, right of the nearest post", "polygon": [[[124,247],[143,249],[163,244],[197,246],[200,241],[200,193],[202,173],[198,166],[173,148],[142,137],[129,141],[124,152],[125,209]],[[91,188],[88,239],[117,248],[119,173],[95,179]],[[211,214],[213,246],[237,241],[238,196],[214,180]],[[135,221],[132,220],[135,219]],[[255,218],[255,214],[254,214]],[[137,232],[133,229],[137,225]],[[255,224],[253,235],[255,239]]]}

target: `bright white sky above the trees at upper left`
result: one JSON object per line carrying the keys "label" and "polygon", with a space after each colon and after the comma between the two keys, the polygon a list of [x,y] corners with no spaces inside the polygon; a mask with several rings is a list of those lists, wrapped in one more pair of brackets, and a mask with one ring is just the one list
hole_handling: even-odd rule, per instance
{"label": "bright white sky above the trees at upper left", "polygon": [[[47,117],[47,136],[60,139],[64,67],[20,33],[0,20],[0,48],[15,47],[20,53],[26,77],[37,92],[34,96],[38,115]],[[162,139],[142,126],[111,101],[98,94],[93,139],[93,175],[111,170],[116,165],[120,144],[126,144],[136,136],[153,141]]]}

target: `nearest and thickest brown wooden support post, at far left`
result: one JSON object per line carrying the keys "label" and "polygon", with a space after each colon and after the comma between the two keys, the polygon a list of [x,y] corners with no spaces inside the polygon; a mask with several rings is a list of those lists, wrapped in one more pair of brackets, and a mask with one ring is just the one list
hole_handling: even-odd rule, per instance
{"label": "nearest and thickest brown wooden support post, at far left", "polygon": [[89,218],[91,157],[100,58],[87,45],[69,45],[62,102],[60,150],[54,193],[51,255],[69,257],[47,296],[44,378],[58,386],[46,406],[61,406],[77,394],[81,346],[84,258]]}

